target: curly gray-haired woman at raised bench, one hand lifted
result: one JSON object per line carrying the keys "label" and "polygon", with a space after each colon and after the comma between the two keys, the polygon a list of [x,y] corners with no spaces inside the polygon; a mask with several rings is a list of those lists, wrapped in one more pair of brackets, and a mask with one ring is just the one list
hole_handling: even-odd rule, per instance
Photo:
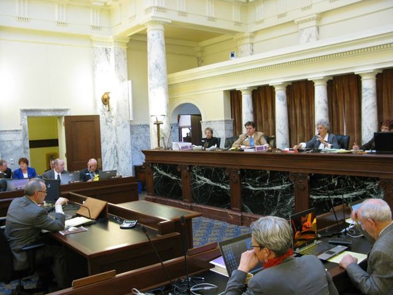
{"label": "curly gray-haired woman at raised bench, one hand lifted", "polygon": [[327,120],[319,120],[315,126],[318,134],[313,136],[308,142],[301,142],[295,145],[294,148],[340,148],[336,135],[329,133],[330,124]]}

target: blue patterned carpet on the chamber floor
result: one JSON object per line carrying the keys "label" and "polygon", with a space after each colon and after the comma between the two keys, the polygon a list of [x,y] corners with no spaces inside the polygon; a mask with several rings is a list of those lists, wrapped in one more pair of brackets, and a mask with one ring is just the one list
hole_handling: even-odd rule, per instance
{"label": "blue patterned carpet on the chamber floor", "polygon": [[[247,232],[250,232],[249,227],[240,227],[205,217],[193,219],[194,247],[203,246],[212,242],[224,241]],[[25,280],[25,287],[33,288],[37,279],[38,276],[33,276],[31,279]],[[12,281],[8,285],[0,283],[0,295],[10,295],[17,284],[17,280]]]}

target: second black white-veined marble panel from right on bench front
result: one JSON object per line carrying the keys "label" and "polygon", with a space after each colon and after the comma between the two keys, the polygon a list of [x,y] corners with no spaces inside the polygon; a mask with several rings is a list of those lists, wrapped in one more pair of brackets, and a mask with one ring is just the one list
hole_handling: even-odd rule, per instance
{"label": "second black white-veined marble panel from right on bench front", "polygon": [[243,212],[288,219],[295,209],[294,182],[289,173],[241,170]]}

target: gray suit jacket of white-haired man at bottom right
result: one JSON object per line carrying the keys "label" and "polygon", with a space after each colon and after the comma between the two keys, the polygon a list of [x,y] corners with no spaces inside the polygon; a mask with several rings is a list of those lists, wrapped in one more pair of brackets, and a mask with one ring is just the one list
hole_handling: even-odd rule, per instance
{"label": "gray suit jacket of white-haired man at bottom right", "polygon": [[367,295],[393,294],[393,224],[379,235],[367,258],[367,272],[357,263],[346,272],[354,285]]}

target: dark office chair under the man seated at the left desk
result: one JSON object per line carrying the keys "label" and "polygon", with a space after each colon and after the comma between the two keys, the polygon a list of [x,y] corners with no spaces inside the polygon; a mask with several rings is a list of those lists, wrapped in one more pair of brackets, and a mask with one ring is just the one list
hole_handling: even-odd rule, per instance
{"label": "dark office chair under the man seated at the left desk", "polygon": [[26,269],[14,270],[12,251],[5,237],[4,227],[0,228],[0,281],[9,284],[11,280],[19,279],[19,284],[12,291],[13,295],[34,294],[47,291],[44,288],[25,289],[22,285],[22,278],[31,276],[35,271],[35,250],[43,246],[45,246],[44,243],[37,243],[23,247],[22,250],[27,252],[29,265]]}

